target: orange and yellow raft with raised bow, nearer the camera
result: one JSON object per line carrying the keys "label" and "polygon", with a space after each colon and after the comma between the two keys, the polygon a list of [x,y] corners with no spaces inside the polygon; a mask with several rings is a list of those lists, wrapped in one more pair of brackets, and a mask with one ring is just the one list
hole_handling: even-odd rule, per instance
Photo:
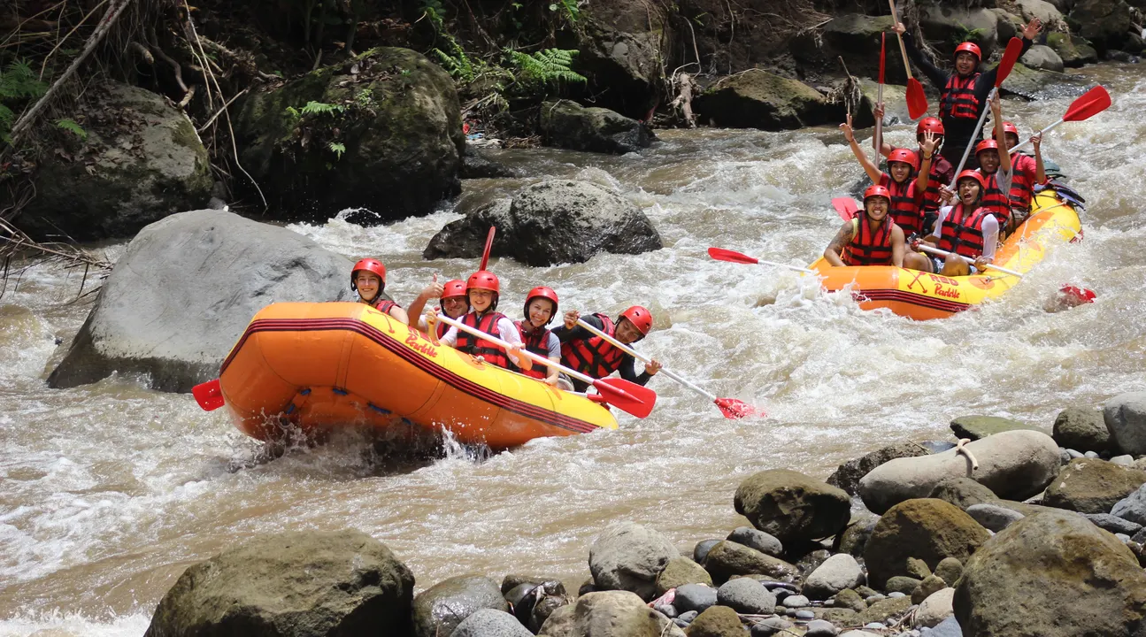
{"label": "orange and yellow raft with raised bow, nearer the camera", "polygon": [[260,440],[283,424],[320,435],[372,427],[447,430],[504,449],[615,430],[609,409],[431,341],[358,302],[283,302],[259,312],[231,348],[219,387],[235,425]]}

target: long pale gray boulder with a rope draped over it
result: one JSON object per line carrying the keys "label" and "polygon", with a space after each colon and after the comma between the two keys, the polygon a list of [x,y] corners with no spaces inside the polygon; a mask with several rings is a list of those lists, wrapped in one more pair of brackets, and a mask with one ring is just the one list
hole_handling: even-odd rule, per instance
{"label": "long pale gray boulder with a rope draped over it", "polygon": [[[979,461],[975,481],[999,497],[1026,500],[1042,491],[1059,472],[1059,446],[1045,433],[1007,431],[966,446]],[[912,497],[927,497],[945,478],[964,478],[971,463],[956,449],[898,458],[876,467],[859,481],[859,496],[877,513]]]}

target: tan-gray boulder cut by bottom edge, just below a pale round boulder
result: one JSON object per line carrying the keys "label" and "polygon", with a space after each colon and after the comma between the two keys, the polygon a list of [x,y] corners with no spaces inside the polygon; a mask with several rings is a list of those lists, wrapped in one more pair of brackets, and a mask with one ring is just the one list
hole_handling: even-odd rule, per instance
{"label": "tan-gray boulder cut by bottom edge, just below a pale round boulder", "polygon": [[673,620],[653,611],[636,595],[623,591],[589,592],[575,604],[549,615],[541,632],[547,637],[684,637]]}

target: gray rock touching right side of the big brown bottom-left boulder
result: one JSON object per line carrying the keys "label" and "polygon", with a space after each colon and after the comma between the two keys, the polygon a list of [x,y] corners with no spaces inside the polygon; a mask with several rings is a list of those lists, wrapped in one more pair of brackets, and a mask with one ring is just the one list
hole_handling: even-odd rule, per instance
{"label": "gray rock touching right side of the big brown bottom-left boulder", "polygon": [[444,580],[414,598],[414,635],[449,637],[464,619],[484,608],[509,612],[496,580],[480,575]]}

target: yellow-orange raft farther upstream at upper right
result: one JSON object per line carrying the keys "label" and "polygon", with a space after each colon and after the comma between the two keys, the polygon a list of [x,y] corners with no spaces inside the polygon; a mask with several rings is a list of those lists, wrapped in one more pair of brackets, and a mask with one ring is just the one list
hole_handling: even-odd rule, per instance
{"label": "yellow-orange raft farther upstream at upper right", "polygon": [[[1035,195],[1030,218],[1003,242],[995,262],[1026,274],[1054,245],[1082,237],[1074,191],[1047,188]],[[943,318],[1003,296],[1021,280],[988,269],[948,277],[894,266],[833,267],[823,258],[808,266],[830,292],[849,290],[863,309],[886,308],[918,321]]]}

